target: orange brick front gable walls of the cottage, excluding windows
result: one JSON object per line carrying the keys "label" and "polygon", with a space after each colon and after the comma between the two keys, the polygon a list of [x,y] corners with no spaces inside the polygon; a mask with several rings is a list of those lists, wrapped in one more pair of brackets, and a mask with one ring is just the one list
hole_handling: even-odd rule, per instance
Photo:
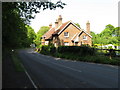
{"label": "orange brick front gable walls of the cottage, excluding windows", "polygon": [[[64,32],[68,32],[69,33],[69,37],[64,37]],[[68,42],[70,46],[73,46],[74,43],[71,41],[71,39],[73,38],[73,36],[76,33],[80,33],[81,31],[79,29],[77,29],[74,25],[70,24],[59,36],[58,36],[58,43],[59,45],[64,45],[64,42]],[[87,40],[83,40],[83,36],[86,35],[87,36]],[[86,33],[82,33],[79,37],[79,42],[78,42],[78,46],[80,46],[82,44],[89,44],[91,46],[91,38],[90,36],[88,36]]]}

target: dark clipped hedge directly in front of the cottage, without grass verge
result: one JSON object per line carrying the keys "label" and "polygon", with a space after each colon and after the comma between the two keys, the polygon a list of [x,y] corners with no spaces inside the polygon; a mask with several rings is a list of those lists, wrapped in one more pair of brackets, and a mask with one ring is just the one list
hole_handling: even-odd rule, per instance
{"label": "dark clipped hedge directly in front of the cottage, without grass verge", "polygon": [[96,50],[87,46],[60,46],[57,49],[54,46],[41,46],[40,53],[55,54],[55,53],[73,53],[78,56],[95,55]]}

